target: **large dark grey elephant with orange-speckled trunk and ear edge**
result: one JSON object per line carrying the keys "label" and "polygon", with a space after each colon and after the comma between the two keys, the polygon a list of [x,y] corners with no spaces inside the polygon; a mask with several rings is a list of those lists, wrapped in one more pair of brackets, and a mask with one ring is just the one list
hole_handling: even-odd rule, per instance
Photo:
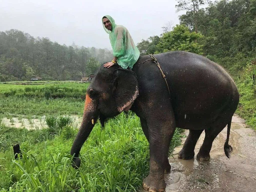
{"label": "large dark grey elephant with orange-speckled trunk and ear edge", "polygon": [[[118,66],[101,67],[92,80],[84,107],[80,130],[71,148],[75,153],[73,166],[80,166],[79,152],[94,122],[131,110],[140,118],[143,132],[150,143],[150,173],[143,180],[148,191],[165,191],[164,173],[170,171],[168,149],[176,127],[189,129],[179,158],[194,158],[196,142],[205,130],[205,140],[197,159],[208,161],[212,142],[228,124],[237,109],[239,93],[234,81],[220,66],[205,57],[175,51],[155,55],[166,75],[164,78],[154,62],[141,56],[133,71]],[[229,157],[229,131],[224,144]]]}

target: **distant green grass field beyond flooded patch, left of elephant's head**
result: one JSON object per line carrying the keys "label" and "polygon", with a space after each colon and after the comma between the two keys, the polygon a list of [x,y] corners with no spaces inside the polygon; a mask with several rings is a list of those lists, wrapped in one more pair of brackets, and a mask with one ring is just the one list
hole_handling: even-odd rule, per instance
{"label": "distant green grass field beyond flooded patch, left of elephant's head", "polygon": [[89,83],[0,84],[0,114],[83,113]]}

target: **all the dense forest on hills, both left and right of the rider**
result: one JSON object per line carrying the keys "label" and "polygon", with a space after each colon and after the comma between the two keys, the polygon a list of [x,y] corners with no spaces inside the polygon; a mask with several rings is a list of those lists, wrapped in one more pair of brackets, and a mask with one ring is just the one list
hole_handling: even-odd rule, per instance
{"label": "all the dense forest on hills, both left and right of the rider", "polygon": [[[256,55],[256,0],[176,0],[180,24],[137,44],[141,55],[185,50],[237,75]],[[205,7],[205,8],[203,8]],[[111,50],[60,45],[11,29],[0,33],[0,81],[80,80],[112,59]],[[255,78],[255,77],[254,77]]]}

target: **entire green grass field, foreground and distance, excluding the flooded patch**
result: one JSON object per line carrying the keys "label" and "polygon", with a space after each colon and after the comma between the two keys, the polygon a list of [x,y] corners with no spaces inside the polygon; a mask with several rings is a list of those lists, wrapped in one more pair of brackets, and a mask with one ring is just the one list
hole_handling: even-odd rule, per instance
{"label": "entire green grass field, foreground and distance, excluding the flooded patch", "polygon": [[[137,191],[149,172],[148,142],[134,113],[97,123],[70,166],[70,148],[83,113],[88,83],[0,84],[0,191]],[[3,118],[45,115],[44,129],[7,127]],[[177,129],[169,154],[180,144]],[[15,160],[19,143],[22,158]]]}

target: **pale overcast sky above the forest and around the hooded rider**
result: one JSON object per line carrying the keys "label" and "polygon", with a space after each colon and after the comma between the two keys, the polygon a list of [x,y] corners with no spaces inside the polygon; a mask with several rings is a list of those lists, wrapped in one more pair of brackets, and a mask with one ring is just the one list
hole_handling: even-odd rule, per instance
{"label": "pale overcast sky above the forest and around the hooded rider", "polygon": [[18,29],[59,44],[111,48],[101,18],[125,26],[135,44],[179,24],[176,0],[0,0],[0,31]]}

